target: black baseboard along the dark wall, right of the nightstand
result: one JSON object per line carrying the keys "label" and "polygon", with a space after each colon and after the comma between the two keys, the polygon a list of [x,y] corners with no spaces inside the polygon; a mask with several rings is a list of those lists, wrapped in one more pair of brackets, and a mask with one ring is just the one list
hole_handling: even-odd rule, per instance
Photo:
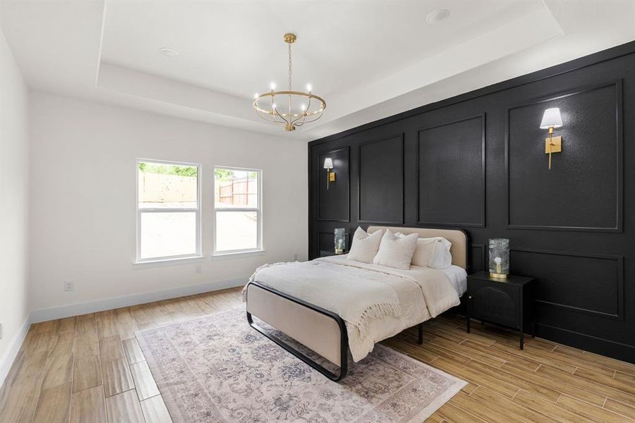
{"label": "black baseboard along the dark wall, right of the nightstand", "polygon": [[536,323],[536,335],[574,348],[635,364],[635,345],[627,345],[548,324]]}

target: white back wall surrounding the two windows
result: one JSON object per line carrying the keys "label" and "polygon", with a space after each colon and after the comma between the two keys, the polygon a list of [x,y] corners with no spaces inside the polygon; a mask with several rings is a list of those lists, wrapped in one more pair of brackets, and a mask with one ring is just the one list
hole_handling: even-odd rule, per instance
{"label": "white back wall surrounding the two windows", "polygon": [[[159,290],[174,294],[188,286],[237,286],[260,264],[290,261],[294,254],[306,259],[305,142],[40,92],[30,96],[30,137],[35,320],[64,314],[50,310],[54,307]],[[199,263],[133,266],[138,157],[202,164],[202,253],[207,257],[200,261],[201,274],[196,273]],[[214,165],[262,169],[264,255],[209,257]],[[74,291],[64,292],[66,280],[75,282]]]}

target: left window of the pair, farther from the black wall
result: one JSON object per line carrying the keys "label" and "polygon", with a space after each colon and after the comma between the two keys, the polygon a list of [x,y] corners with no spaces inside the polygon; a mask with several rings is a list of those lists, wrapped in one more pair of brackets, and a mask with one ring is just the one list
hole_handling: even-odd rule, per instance
{"label": "left window of the pair, farther from the black wall", "polygon": [[137,160],[137,262],[200,256],[200,165]]}

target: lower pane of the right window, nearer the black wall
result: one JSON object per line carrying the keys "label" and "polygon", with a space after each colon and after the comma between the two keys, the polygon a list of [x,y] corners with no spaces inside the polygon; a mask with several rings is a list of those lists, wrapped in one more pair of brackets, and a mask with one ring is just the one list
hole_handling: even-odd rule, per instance
{"label": "lower pane of the right window, nearer the black wall", "polygon": [[258,248],[257,212],[216,212],[216,250]]}

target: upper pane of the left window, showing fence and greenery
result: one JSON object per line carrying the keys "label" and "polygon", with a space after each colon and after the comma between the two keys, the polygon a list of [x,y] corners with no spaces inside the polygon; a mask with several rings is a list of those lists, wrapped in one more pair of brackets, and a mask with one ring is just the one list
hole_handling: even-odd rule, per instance
{"label": "upper pane of the left window, showing fence and greenery", "polygon": [[139,208],[196,208],[198,168],[139,162]]}

